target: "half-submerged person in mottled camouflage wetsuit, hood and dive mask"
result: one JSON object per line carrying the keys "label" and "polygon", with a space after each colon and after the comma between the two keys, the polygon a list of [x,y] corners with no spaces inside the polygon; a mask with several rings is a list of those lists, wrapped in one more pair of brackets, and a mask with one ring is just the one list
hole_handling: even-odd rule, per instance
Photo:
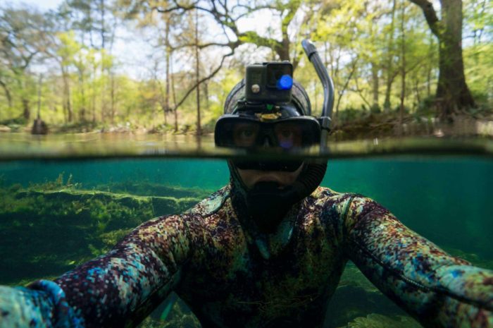
{"label": "half-submerged person in mottled camouflage wetsuit, hood and dive mask", "polygon": [[0,287],[0,327],[136,327],[170,291],[204,328],[322,327],[348,260],[423,327],[493,327],[492,271],[319,187],[326,162],[256,157],[323,144],[327,116],[311,116],[289,63],[248,66],[224,111],[216,145],[251,154],[228,161],[227,186],[54,281]]}

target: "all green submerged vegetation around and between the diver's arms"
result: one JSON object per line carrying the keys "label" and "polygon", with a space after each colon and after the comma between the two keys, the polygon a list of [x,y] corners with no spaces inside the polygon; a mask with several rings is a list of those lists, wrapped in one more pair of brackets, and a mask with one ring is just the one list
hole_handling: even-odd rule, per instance
{"label": "all green submerged vegetation around and between the diver's arms", "polygon": [[[106,253],[142,222],[183,212],[210,190],[157,183],[116,182],[85,188],[72,176],[53,181],[0,183],[0,284],[54,278]],[[473,265],[493,261],[445,248]],[[146,318],[141,328],[199,328],[199,321],[175,294]],[[418,328],[349,262],[327,308],[325,328]]]}

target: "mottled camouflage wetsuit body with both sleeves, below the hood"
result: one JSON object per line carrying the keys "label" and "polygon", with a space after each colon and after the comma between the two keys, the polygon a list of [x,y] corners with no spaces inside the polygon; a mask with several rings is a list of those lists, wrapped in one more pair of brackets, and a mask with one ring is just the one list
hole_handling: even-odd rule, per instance
{"label": "mottled camouflage wetsuit body with both sleeves, below the hood", "polygon": [[0,289],[0,327],[133,327],[171,290],[204,328],[320,327],[347,260],[425,327],[493,327],[493,272],[373,200],[318,188],[269,236],[235,209],[227,186],[142,224],[56,284]]}

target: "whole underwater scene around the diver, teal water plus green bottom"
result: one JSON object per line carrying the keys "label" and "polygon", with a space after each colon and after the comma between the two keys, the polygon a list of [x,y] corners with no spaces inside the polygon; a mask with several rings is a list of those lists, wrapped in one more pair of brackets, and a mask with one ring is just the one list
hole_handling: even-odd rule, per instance
{"label": "whole underwater scene around the diver, teal water plus green bottom", "polygon": [[[329,159],[322,186],[361,193],[452,255],[493,269],[493,160],[469,155]],[[0,162],[0,284],[54,278],[142,222],[182,212],[229,179],[225,159]],[[141,327],[200,327],[176,296]],[[420,327],[349,263],[325,326]],[[163,318],[165,318],[163,320]]]}

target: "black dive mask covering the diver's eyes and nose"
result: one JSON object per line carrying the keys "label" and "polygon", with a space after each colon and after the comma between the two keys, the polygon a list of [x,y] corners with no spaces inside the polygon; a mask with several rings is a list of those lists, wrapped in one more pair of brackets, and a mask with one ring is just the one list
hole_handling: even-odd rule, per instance
{"label": "black dive mask covering the diver's eyes and nose", "polygon": [[[214,139],[218,147],[243,149],[250,154],[296,152],[318,145],[320,124],[312,116],[301,116],[292,104],[244,104],[239,102],[237,114],[218,119]],[[235,159],[239,169],[261,171],[296,171],[302,160],[268,161]]]}

